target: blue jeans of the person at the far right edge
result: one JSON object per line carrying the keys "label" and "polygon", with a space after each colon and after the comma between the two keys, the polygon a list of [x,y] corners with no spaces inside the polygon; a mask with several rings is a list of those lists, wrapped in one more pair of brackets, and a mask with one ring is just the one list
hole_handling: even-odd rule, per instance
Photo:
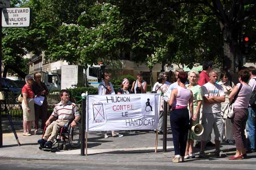
{"label": "blue jeans of the person at the far right edge", "polygon": [[255,124],[256,124],[256,119],[255,119],[255,108],[248,108],[249,115],[248,119],[246,122],[246,131],[248,135],[248,146],[247,149],[255,150]]}

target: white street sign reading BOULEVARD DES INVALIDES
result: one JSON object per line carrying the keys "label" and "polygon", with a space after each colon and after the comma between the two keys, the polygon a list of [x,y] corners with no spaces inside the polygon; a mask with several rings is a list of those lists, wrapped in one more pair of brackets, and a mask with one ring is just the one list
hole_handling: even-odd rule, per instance
{"label": "white street sign reading BOULEVARD DES INVALIDES", "polygon": [[2,27],[25,27],[30,24],[30,8],[3,8]]}

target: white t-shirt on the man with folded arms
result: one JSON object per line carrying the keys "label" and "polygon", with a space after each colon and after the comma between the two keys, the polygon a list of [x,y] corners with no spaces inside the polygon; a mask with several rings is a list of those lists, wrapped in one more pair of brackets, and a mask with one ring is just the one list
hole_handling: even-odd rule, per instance
{"label": "white t-shirt on the man with folded arms", "polygon": [[[219,84],[207,82],[202,86],[203,96],[225,96],[224,90]],[[221,111],[220,103],[205,103],[203,102],[203,113],[219,113]]]}

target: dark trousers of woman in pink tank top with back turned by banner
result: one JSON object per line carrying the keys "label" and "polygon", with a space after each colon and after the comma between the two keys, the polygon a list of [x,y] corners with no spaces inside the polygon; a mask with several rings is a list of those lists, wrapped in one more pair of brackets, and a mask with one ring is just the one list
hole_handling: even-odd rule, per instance
{"label": "dark trousers of woman in pink tank top with back turned by banner", "polygon": [[189,113],[187,108],[175,109],[170,115],[171,131],[175,155],[185,156]]}

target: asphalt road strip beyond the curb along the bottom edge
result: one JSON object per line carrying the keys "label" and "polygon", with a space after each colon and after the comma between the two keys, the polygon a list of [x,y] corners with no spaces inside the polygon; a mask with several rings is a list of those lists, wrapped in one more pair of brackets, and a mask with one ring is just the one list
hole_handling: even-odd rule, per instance
{"label": "asphalt road strip beyond the curb along the bottom edge", "polygon": [[56,160],[0,160],[0,170],[256,170],[255,161],[198,160],[172,163],[170,160],[123,160],[123,161],[69,161]]}

